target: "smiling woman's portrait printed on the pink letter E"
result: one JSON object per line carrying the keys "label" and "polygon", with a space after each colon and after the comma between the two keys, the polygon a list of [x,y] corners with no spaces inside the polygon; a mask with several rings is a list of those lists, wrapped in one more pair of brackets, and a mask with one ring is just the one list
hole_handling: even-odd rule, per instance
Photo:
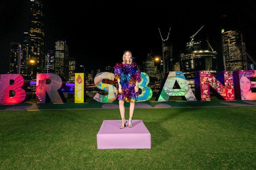
{"label": "smiling woman's portrait printed on the pink letter E", "polygon": [[246,73],[239,74],[242,100],[256,100],[256,93],[252,93],[250,77]]}

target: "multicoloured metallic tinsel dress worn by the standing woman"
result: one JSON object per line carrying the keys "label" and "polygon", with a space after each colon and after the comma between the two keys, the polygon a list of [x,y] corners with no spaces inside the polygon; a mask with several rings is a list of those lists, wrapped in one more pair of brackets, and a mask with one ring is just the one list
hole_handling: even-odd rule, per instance
{"label": "multicoloured metallic tinsel dress worn by the standing woman", "polygon": [[117,99],[119,101],[135,102],[138,100],[139,93],[135,93],[136,82],[140,82],[140,70],[135,62],[132,64],[117,63],[114,66],[115,78],[120,79],[122,92],[117,90]]}

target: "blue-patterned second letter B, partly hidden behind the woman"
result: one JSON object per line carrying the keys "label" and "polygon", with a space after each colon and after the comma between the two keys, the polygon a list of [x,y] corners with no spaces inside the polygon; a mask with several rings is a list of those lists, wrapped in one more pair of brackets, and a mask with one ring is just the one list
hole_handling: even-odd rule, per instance
{"label": "blue-patterned second letter B, partly hidden behind the woman", "polygon": [[141,75],[141,81],[138,83],[139,88],[142,90],[142,94],[139,95],[138,101],[148,101],[152,97],[152,89],[150,87],[147,87],[149,84],[149,76],[147,73],[140,72]]}

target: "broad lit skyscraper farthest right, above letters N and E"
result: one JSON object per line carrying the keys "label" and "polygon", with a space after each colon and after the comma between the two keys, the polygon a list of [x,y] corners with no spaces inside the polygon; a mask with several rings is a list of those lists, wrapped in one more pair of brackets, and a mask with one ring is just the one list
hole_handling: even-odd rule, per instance
{"label": "broad lit skyscraper farthest right, above letters N and E", "polygon": [[222,52],[224,60],[225,70],[235,71],[235,70],[247,70],[248,67],[245,63],[245,60],[242,58],[236,44],[241,45],[243,51],[243,56],[245,56],[245,42],[241,31],[221,31],[221,40],[222,40]]}

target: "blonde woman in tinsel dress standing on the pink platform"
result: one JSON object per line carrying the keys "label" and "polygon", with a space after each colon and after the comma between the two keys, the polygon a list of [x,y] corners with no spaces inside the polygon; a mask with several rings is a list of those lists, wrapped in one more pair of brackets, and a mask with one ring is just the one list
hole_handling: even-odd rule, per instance
{"label": "blonde woman in tinsel dress standing on the pink platform", "polygon": [[134,111],[135,101],[138,100],[138,83],[141,80],[140,70],[135,62],[132,62],[132,53],[125,51],[123,62],[114,66],[115,77],[118,82],[117,98],[119,100],[119,109],[122,119],[121,129],[126,125],[124,117],[124,101],[130,102],[129,128],[132,128],[132,115]]}

